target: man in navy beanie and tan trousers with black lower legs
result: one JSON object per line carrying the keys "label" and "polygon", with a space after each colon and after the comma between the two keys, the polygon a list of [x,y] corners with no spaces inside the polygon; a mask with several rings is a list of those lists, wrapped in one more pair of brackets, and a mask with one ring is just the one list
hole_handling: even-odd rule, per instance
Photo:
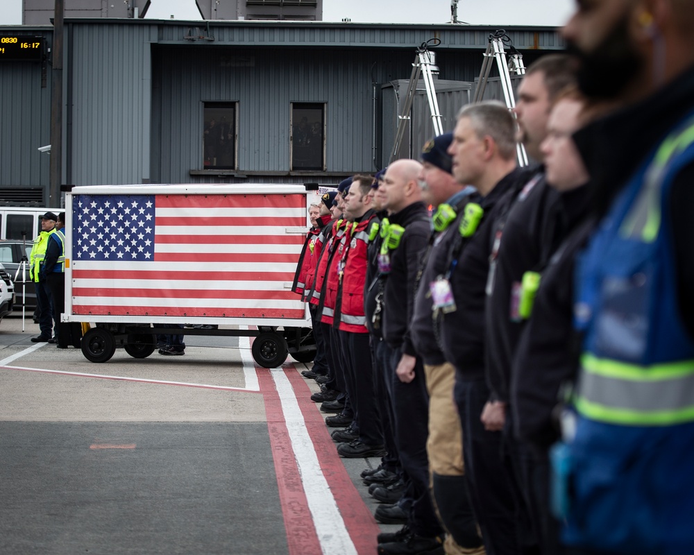
{"label": "man in navy beanie and tan trousers with black lower legs", "polygon": [[448,250],[464,214],[465,205],[475,191],[457,182],[452,175],[448,148],[453,134],[435,137],[423,148],[420,180],[425,184],[425,203],[434,209],[434,230],[430,234],[418,273],[418,288],[410,323],[412,343],[424,364],[429,394],[430,490],[437,513],[446,528],[443,551],[446,555],[483,554],[482,538],[477,532],[463,464],[463,435],[460,416],[453,400],[455,367],[443,356],[432,321],[429,284],[446,268]]}

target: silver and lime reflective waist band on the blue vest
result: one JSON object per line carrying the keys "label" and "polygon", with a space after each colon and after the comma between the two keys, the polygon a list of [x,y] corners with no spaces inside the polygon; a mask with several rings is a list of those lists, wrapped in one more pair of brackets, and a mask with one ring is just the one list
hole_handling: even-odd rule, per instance
{"label": "silver and lime reflective waist band on the blue vest", "polygon": [[694,419],[694,360],[636,366],[583,355],[576,408],[601,422],[663,426]]}

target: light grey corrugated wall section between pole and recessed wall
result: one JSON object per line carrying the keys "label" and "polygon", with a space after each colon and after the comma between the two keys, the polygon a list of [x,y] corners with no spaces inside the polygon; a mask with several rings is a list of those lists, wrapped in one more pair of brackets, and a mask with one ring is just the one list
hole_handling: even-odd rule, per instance
{"label": "light grey corrugated wall section between pole and recessed wall", "polygon": [[[149,179],[150,40],[155,26],[69,26],[71,159],[75,185]],[[67,123],[67,122],[66,122]]]}

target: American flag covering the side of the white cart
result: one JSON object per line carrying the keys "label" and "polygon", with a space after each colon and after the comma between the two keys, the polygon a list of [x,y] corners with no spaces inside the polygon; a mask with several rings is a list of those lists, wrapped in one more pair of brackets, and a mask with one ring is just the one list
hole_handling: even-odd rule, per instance
{"label": "American flag covering the side of the white cart", "polygon": [[72,314],[304,318],[302,194],[74,194]]}

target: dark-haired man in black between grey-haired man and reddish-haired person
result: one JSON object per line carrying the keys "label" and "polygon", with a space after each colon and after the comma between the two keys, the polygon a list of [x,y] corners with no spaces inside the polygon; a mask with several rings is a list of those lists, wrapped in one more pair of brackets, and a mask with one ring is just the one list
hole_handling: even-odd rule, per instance
{"label": "dark-haired man in black between grey-haired man and reddish-haired person", "polygon": [[[575,83],[572,60],[561,54],[543,56],[527,68],[518,87],[516,118],[519,138],[527,153],[542,161],[544,154],[540,144],[547,135],[547,122],[552,102],[567,85]],[[540,459],[525,445],[518,443],[513,434],[509,382],[518,339],[527,322],[527,314],[521,314],[524,276],[539,275],[546,266],[550,254],[558,246],[582,214],[586,206],[586,188],[566,194],[562,198],[545,180],[544,168],[539,165],[516,196],[502,209],[493,232],[489,281],[486,288],[486,379],[493,400],[482,413],[482,421],[491,431],[503,434],[504,454],[519,491],[518,520],[527,533],[526,545],[539,543],[541,551],[555,552],[552,545],[547,514],[547,501],[543,499],[546,488],[540,491],[533,476],[544,477],[549,461]],[[583,185],[583,183],[581,184]],[[541,384],[534,384],[541,387]],[[530,522],[532,522],[532,527]],[[556,532],[553,536],[557,536]]]}

